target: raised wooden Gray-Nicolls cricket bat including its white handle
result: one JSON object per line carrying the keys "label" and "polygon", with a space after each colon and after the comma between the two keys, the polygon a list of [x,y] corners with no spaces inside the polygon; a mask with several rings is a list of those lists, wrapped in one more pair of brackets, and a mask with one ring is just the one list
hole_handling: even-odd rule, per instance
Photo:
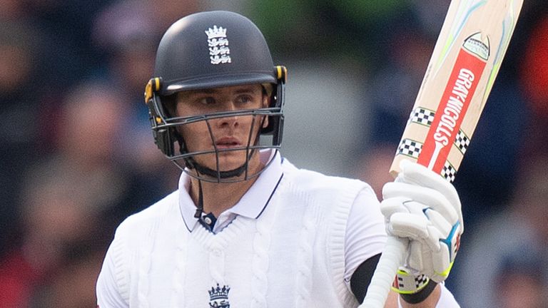
{"label": "raised wooden Gray-Nicolls cricket bat including its white handle", "polygon": [[[470,144],[523,0],[452,0],[390,167],[425,165],[452,182]],[[381,308],[408,241],[389,237],[361,308]]]}

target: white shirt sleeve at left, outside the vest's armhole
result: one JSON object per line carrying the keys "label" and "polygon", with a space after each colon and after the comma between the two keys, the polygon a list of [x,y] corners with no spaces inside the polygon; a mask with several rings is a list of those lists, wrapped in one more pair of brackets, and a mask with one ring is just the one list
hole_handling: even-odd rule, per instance
{"label": "white shirt sleeve at left, outside the vest's armhole", "polygon": [[96,284],[97,307],[99,308],[123,308],[129,304],[121,296],[116,278],[116,264],[113,260],[113,250],[116,242],[113,242],[106,252],[103,267],[99,273]]}

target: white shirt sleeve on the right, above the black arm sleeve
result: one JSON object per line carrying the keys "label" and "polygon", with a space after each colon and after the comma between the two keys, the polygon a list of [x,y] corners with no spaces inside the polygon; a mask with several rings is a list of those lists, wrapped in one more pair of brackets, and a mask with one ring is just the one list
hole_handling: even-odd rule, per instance
{"label": "white shirt sleeve on the right, above the black arm sleeve", "polygon": [[372,188],[360,191],[347,220],[345,237],[345,284],[350,289],[350,278],[365,260],[382,253],[387,239],[385,218],[380,202]]}

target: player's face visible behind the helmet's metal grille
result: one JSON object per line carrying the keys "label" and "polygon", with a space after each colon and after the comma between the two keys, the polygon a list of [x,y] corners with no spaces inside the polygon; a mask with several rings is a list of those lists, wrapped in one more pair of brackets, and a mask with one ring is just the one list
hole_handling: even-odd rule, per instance
{"label": "player's face visible behind the helmet's metal grille", "polygon": [[[176,114],[180,117],[199,116],[265,107],[268,107],[268,96],[262,86],[255,84],[180,92]],[[212,170],[228,171],[245,163],[246,155],[252,153],[245,147],[254,145],[260,128],[267,125],[265,116],[228,116],[181,125],[178,131],[189,152],[217,150],[216,155],[195,155],[196,163]],[[260,163],[258,155],[254,154],[250,156],[248,171],[257,168],[260,168]]]}

